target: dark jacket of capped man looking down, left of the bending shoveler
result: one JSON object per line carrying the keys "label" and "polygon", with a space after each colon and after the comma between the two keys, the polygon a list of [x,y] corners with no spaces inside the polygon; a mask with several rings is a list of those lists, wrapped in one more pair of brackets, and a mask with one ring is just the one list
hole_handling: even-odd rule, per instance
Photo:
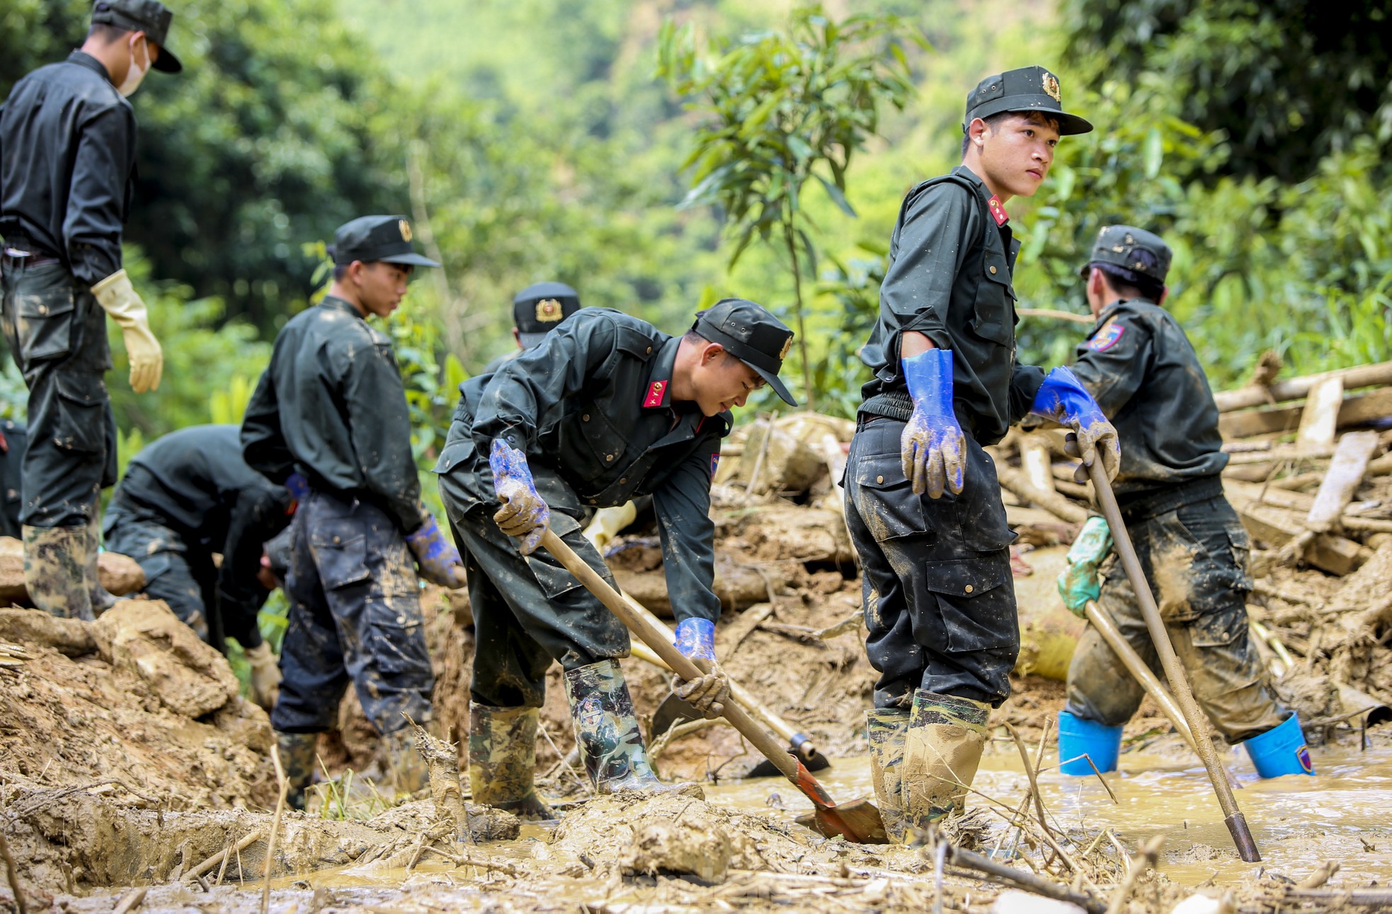
{"label": "dark jacket of capped man looking down, left of the bending shoveler", "polygon": [[316,490],[377,505],[402,533],[420,526],[411,413],[391,341],[340,298],[296,314],[276,337],[242,420],[242,454],[273,483],[298,470]]}

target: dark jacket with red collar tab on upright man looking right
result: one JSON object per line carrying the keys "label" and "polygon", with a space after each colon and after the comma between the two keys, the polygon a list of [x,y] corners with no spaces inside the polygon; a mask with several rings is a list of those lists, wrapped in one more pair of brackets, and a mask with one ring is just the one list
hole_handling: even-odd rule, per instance
{"label": "dark jacket with red collar tab on upright man looking right", "polygon": [[[874,378],[860,412],[908,420],[899,341],[917,331],[952,349],[952,395],[963,431],[995,444],[1034,402],[1044,371],[1015,364],[1015,289],[1020,243],[997,225],[991,192],[966,166],[924,181],[903,199],[880,287],[880,320],[860,358]],[[1004,210],[1001,210],[1004,216]]]}

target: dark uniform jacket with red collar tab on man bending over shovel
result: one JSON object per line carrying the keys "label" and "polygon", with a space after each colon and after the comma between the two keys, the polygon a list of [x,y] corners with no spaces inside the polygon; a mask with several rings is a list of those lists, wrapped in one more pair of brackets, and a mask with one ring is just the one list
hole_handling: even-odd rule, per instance
{"label": "dark uniform jacket with red collar tab on man bending over shovel", "polygon": [[[550,465],[579,506],[653,497],[667,587],[678,619],[720,616],[710,480],[731,416],[674,403],[678,337],[617,310],[586,307],[509,359],[459,387],[472,441],[451,438],[437,473],[487,455],[504,438],[535,466]],[[491,492],[491,486],[490,486]],[[553,505],[578,513],[579,506]]]}

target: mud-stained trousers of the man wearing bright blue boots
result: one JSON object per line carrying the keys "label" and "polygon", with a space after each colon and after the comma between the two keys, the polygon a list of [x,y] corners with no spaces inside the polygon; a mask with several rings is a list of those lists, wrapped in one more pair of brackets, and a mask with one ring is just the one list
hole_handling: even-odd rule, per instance
{"label": "mud-stained trousers of the man wearing bright blue boots", "polygon": [[[1141,569],[1160,607],[1194,700],[1214,728],[1243,741],[1289,716],[1247,633],[1249,538],[1224,498],[1183,505],[1129,524]],[[1164,682],[1136,593],[1119,562],[1108,570],[1100,605]],[[1068,711],[1107,726],[1140,707],[1141,687],[1089,629],[1068,673]]]}

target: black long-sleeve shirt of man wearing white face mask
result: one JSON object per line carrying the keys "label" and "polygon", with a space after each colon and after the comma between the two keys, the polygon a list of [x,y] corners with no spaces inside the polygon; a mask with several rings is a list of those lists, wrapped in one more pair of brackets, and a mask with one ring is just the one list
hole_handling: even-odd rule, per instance
{"label": "black long-sleeve shirt of man wearing white face mask", "polygon": [[72,51],[14,83],[0,109],[0,235],[92,287],[121,268],[135,113],[106,67]]}

